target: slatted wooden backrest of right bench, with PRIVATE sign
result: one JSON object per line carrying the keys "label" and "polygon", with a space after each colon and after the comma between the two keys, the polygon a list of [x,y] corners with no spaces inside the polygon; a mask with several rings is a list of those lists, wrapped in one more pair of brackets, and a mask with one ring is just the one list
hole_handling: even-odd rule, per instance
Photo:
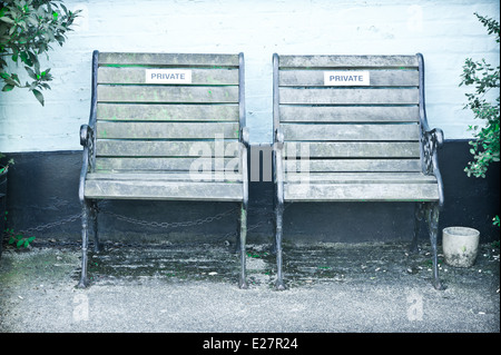
{"label": "slatted wooden backrest of right bench, with PRIVATE sign", "polygon": [[274,55],[287,171],[421,171],[416,56]]}

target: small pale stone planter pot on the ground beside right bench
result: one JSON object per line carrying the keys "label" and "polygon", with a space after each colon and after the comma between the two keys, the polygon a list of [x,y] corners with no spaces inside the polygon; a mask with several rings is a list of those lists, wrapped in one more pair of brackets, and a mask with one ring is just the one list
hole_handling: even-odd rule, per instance
{"label": "small pale stone planter pot on the ground beside right bench", "polygon": [[442,249],[445,264],[456,267],[470,267],[479,252],[480,231],[468,227],[443,229]]}

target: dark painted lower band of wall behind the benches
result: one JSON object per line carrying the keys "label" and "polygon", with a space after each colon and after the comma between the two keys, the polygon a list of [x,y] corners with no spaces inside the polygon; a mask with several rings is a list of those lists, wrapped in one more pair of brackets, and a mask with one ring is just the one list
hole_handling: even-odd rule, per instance
{"label": "dark painted lower band of wall behind the benches", "polygon": [[[266,155],[269,146],[262,145]],[[78,179],[81,151],[10,154],[16,165],[9,170],[8,227],[38,238],[80,239]],[[487,178],[468,178],[463,172],[471,159],[466,140],[450,140],[440,151],[445,205],[440,229],[469,226],[481,231],[482,241],[499,240],[492,218],[499,215],[499,164]],[[266,159],[265,159],[266,160]],[[254,166],[252,164],[252,166]],[[268,168],[266,166],[266,168]],[[265,179],[268,177],[265,169]],[[254,170],[255,172],[255,170]],[[253,174],[253,171],[250,171]],[[255,177],[255,175],[253,175]],[[250,181],[248,243],[272,243],[273,184]],[[204,218],[236,208],[236,204],[188,201],[104,201],[99,231],[105,240],[166,241],[208,240],[234,243],[237,210],[209,223]],[[288,241],[389,241],[411,240],[414,205],[407,203],[292,204],[286,205],[284,239]],[[129,223],[112,214],[147,221],[187,221],[189,226],[160,228]],[[38,227],[37,229],[33,229]],[[421,240],[428,239],[423,226]]]}

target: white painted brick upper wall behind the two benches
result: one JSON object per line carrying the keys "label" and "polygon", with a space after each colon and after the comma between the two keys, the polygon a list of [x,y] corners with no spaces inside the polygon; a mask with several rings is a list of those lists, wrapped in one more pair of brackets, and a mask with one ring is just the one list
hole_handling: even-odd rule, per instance
{"label": "white painted brick upper wall behind the two benches", "polygon": [[[272,55],[414,55],[426,66],[431,127],[470,138],[472,115],[459,88],[464,59],[499,62],[499,46],[473,16],[499,20],[499,1],[404,0],[67,0],[79,28],[55,47],[46,107],[31,93],[0,92],[0,151],[80,149],[88,121],[90,60],[100,51],[220,52],[246,58],[250,140],[272,141]],[[22,67],[21,67],[22,68]],[[20,70],[21,71],[21,70]]]}

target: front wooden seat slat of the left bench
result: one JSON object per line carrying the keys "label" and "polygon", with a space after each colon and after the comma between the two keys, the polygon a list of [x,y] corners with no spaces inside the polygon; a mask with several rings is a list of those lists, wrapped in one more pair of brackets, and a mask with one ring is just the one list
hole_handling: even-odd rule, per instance
{"label": "front wooden seat slat of the left bench", "polygon": [[87,198],[228,200],[243,199],[239,183],[191,183],[151,180],[87,180]]}

